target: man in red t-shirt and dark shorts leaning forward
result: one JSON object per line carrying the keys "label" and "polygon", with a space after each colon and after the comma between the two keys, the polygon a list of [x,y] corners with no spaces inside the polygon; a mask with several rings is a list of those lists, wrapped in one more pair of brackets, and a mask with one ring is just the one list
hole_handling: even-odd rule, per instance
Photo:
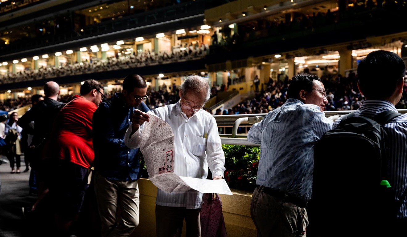
{"label": "man in red t-shirt and dark shorts leaning forward", "polygon": [[55,205],[57,236],[75,234],[74,223],[89,186],[94,159],[92,116],[104,97],[98,81],[85,80],[81,95],[75,95],[58,113],[44,148],[43,158],[54,167],[49,190]]}

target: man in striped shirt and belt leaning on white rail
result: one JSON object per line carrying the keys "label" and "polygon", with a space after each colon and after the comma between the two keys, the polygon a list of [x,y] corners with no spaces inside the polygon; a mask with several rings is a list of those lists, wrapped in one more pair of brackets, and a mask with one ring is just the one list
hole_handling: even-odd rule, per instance
{"label": "man in striped shirt and belt leaning on white rail", "polygon": [[322,112],[328,101],[318,76],[294,76],[287,97],[247,134],[248,141],[261,143],[258,186],[250,204],[258,237],[305,235],[314,144],[333,124]]}

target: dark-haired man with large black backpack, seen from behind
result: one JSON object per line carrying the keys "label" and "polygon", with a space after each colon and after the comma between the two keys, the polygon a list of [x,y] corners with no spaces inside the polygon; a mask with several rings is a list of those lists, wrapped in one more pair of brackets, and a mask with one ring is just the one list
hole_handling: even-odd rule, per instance
{"label": "dark-haired man with large black backpack, seen from behind", "polygon": [[[407,226],[407,114],[396,113],[395,107],[403,93],[405,64],[397,54],[378,50],[361,60],[357,73],[365,102],[338,118],[315,146],[315,208],[310,212],[315,236],[394,236]],[[326,144],[333,142],[358,146],[326,152]],[[329,207],[335,212],[328,213]]]}

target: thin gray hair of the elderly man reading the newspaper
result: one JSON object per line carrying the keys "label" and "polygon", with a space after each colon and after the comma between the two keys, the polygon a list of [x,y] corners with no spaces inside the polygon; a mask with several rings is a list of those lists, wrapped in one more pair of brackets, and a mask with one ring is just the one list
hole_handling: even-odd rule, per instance
{"label": "thin gray hair of the elderly man reading the newspaper", "polygon": [[184,82],[179,86],[181,89],[181,95],[184,96],[188,91],[193,91],[193,93],[199,93],[205,95],[205,102],[209,100],[210,97],[210,81],[197,75],[188,76]]}

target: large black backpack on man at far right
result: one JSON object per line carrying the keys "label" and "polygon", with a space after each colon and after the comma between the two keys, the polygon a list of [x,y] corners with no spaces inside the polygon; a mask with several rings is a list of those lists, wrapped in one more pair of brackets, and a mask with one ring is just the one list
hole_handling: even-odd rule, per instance
{"label": "large black backpack on man at far right", "polygon": [[371,119],[352,112],[317,141],[309,210],[315,230],[328,234],[337,225],[342,234],[366,234],[396,219],[405,194],[397,202],[393,188],[382,182],[388,180],[390,145],[383,125],[399,115],[383,111]]}

